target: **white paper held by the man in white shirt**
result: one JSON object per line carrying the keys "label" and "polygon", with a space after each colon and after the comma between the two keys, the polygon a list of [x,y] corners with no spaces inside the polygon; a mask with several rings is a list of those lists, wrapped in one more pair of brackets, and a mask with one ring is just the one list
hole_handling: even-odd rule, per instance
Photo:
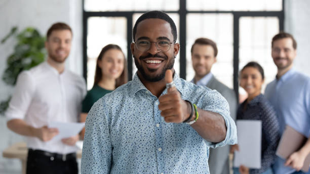
{"label": "white paper held by the man in white shirt", "polygon": [[84,126],[85,122],[51,122],[49,123],[49,127],[58,128],[59,131],[59,134],[52,141],[78,135]]}

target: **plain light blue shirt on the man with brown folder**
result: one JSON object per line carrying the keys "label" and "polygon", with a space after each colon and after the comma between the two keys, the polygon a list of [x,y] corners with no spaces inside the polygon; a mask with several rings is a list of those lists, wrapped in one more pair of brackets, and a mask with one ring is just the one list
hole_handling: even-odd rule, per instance
{"label": "plain light blue shirt on the man with brown folder", "polygon": [[[283,134],[290,125],[305,137],[310,136],[310,78],[295,71],[286,72],[266,86],[265,97],[274,106]],[[291,173],[294,169],[284,166],[284,159],[278,157],[274,168],[276,173]],[[309,172],[310,173],[310,172]]]}

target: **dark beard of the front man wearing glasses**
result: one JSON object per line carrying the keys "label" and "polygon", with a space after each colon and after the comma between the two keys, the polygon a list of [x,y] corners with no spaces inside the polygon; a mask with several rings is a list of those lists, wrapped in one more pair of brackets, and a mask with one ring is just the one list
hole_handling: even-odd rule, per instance
{"label": "dark beard of the front man wearing glasses", "polygon": [[[160,81],[160,80],[162,80],[162,79],[165,77],[166,70],[172,69],[172,68],[173,68],[174,59],[175,59],[175,57],[174,57],[174,58],[172,58],[169,62],[167,62],[167,64],[166,64],[165,67],[163,68],[162,72],[160,72],[160,74],[155,75],[155,76],[151,76],[151,75],[147,74],[147,73],[144,71],[144,69],[143,69],[143,67],[141,66],[141,64],[139,64],[137,58],[136,58],[135,56],[133,56],[133,57],[134,57],[135,65],[136,65],[138,71],[139,71],[139,72],[141,73],[141,75],[143,76],[143,78],[144,78],[145,80],[151,81],[151,82],[155,82],[155,81]],[[155,55],[148,54],[148,55],[146,55],[146,56],[140,56],[140,57],[139,57],[139,60],[140,60],[140,61],[143,61],[143,59],[145,59],[145,58],[151,58],[151,57],[163,58],[163,59],[165,59],[165,60],[168,61],[168,57],[167,57],[167,56],[161,56],[161,55],[158,55],[158,54],[155,54]],[[149,72],[155,72],[155,71],[157,71],[157,69],[150,69],[150,68],[147,68],[147,70],[148,70]]]}

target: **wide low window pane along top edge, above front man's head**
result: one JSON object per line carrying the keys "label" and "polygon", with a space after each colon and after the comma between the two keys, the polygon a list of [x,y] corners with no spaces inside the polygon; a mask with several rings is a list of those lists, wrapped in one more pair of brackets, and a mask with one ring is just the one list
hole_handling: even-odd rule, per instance
{"label": "wide low window pane along top edge, above front man's head", "polygon": [[85,0],[85,11],[178,11],[179,0]]}

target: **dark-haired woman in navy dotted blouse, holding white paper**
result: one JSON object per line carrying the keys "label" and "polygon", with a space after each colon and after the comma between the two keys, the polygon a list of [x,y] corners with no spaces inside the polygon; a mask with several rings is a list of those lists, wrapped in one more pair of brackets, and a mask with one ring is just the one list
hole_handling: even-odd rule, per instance
{"label": "dark-haired woman in navy dotted blouse, holding white paper", "polygon": [[[276,150],[280,140],[277,115],[268,100],[261,94],[264,82],[263,68],[256,62],[249,62],[240,72],[240,86],[247,92],[248,98],[238,107],[237,120],[261,120],[261,168],[249,169],[241,165],[234,173],[273,173],[272,165],[276,159]],[[238,144],[232,145],[230,152],[239,150]]]}

